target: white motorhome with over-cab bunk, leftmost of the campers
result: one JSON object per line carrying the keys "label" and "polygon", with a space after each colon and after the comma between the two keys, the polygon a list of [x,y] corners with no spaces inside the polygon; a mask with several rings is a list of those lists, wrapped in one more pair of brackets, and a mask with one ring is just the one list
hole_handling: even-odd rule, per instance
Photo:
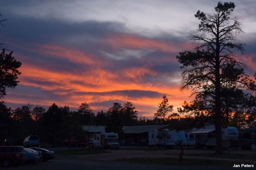
{"label": "white motorhome with over-cab bunk, leftmost of the campers", "polygon": [[117,133],[96,133],[93,139],[93,145],[96,148],[119,149]]}

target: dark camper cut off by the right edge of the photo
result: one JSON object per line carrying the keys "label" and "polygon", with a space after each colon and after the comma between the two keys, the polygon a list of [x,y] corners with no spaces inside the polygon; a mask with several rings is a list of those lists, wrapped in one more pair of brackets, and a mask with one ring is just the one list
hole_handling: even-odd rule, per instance
{"label": "dark camper cut off by the right edge of the photo", "polygon": [[239,130],[238,141],[241,148],[256,150],[256,127]]}

